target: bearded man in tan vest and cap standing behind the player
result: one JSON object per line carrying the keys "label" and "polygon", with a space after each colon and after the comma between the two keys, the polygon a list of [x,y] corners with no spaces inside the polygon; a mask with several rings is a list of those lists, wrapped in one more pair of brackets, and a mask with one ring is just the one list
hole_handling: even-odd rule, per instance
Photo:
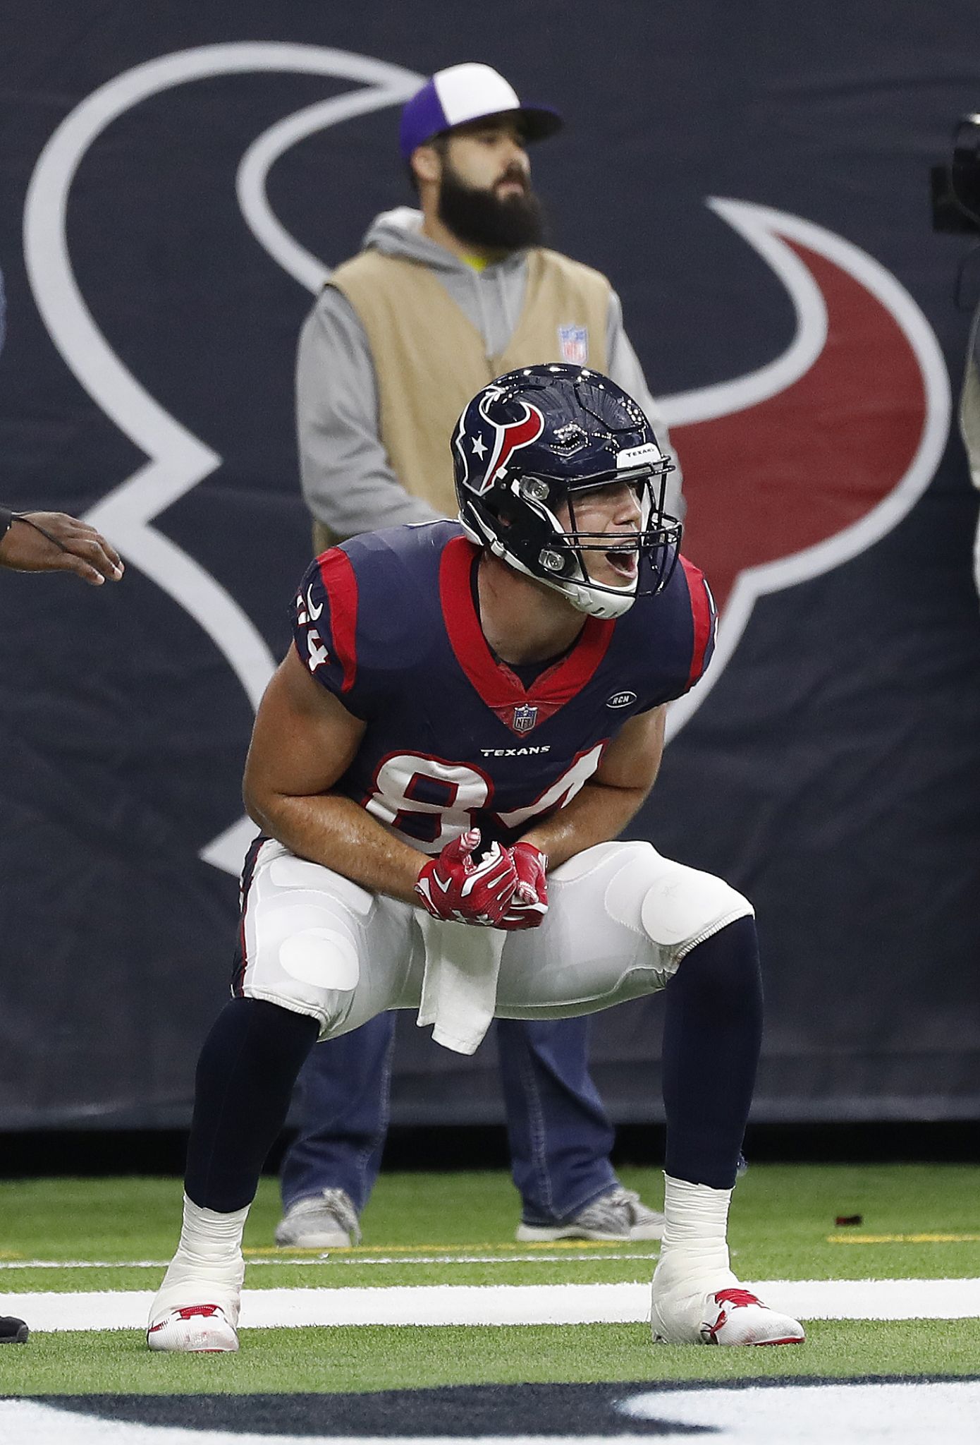
{"label": "bearded man in tan vest and cap standing behind the player", "polygon": [[[439,71],[407,103],[401,156],[420,210],[388,211],[339,266],[302,334],[297,428],[315,551],[458,510],[446,438],[494,377],[535,363],[608,373],[668,438],[605,276],[541,246],[527,146],[560,116],[488,65]],[[667,510],[680,517],[678,471]],[[496,1042],[517,1238],[660,1238],[621,1186],[589,1077],[587,1019],[501,1020]],[[313,1051],[283,1166],[284,1246],[359,1243],[388,1120],[394,1014]]]}

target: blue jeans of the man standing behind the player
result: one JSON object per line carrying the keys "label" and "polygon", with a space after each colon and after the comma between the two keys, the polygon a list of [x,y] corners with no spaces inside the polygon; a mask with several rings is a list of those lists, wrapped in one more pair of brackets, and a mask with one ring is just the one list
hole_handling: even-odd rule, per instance
{"label": "blue jeans of the man standing behind the player", "polygon": [[[394,1013],[316,1045],[299,1077],[299,1134],[283,1205],[345,1189],[358,1214],[388,1129]],[[589,1019],[496,1020],[511,1172],[527,1224],[554,1224],[616,1185],[613,1130],[589,1075]]]}

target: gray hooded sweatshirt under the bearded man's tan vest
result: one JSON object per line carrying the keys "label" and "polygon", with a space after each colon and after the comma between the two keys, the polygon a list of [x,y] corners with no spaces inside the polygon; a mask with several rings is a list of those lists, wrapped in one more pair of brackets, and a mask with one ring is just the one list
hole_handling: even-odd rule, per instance
{"label": "gray hooded sweatshirt under the bearded man's tan vest", "polygon": [[[524,305],[524,251],[512,251],[478,272],[423,236],[421,212],[410,207],[375,217],[364,249],[429,266],[484,337],[486,354],[499,355],[505,348]],[[606,355],[612,380],[639,403],[661,447],[668,448],[667,428],[624,331],[615,292],[609,296]],[[437,516],[427,501],[410,497],[391,470],[378,435],[378,386],[367,334],[346,298],[329,285],[300,334],[296,425],[306,504],[338,536]],[[668,510],[683,514],[680,471],[668,478]]]}

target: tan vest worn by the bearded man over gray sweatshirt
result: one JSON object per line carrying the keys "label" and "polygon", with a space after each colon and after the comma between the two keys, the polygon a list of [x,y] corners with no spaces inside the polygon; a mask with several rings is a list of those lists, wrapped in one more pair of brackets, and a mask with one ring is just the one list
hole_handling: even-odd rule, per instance
{"label": "tan vest worn by the bearded man over gray sweatshirt", "polygon": [[528,251],[524,306],[511,340],[494,357],[421,263],[362,251],[339,266],[329,285],[346,296],[367,332],[381,441],[398,481],[450,517],[458,512],[450,438],[481,387],[514,367],[572,360],[561,354],[560,327],[585,328],[583,360],[606,370],[609,282],[557,251]]}

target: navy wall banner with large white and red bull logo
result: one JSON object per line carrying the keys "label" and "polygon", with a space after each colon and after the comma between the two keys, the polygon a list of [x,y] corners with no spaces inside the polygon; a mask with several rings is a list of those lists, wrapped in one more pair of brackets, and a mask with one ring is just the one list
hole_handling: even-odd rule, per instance
{"label": "navy wall banner with large white and red bull logo", "polygon": [[[980,103],[974,6],[543,0],[533,33],[518,0],[489,32],[447,0],[6,19],[0,501],[87,516],[127,575],[0,574],[0,1129],[189,1117],[244,751],[309,553],[296,337],[411,199],[398,107],[471,58],[564,111],[533,153],[553,243],[613,280],[684,465],[719,644],[632,832],[755,902],[756,1117],[976,1117],[968,241],[928,210]],[[660,1019],[595,1022],[621,1120],[658,1116]],[[499,1117],[492,1075],[492,1040],[466,1061],[400,1022],[395,1120]]]}

